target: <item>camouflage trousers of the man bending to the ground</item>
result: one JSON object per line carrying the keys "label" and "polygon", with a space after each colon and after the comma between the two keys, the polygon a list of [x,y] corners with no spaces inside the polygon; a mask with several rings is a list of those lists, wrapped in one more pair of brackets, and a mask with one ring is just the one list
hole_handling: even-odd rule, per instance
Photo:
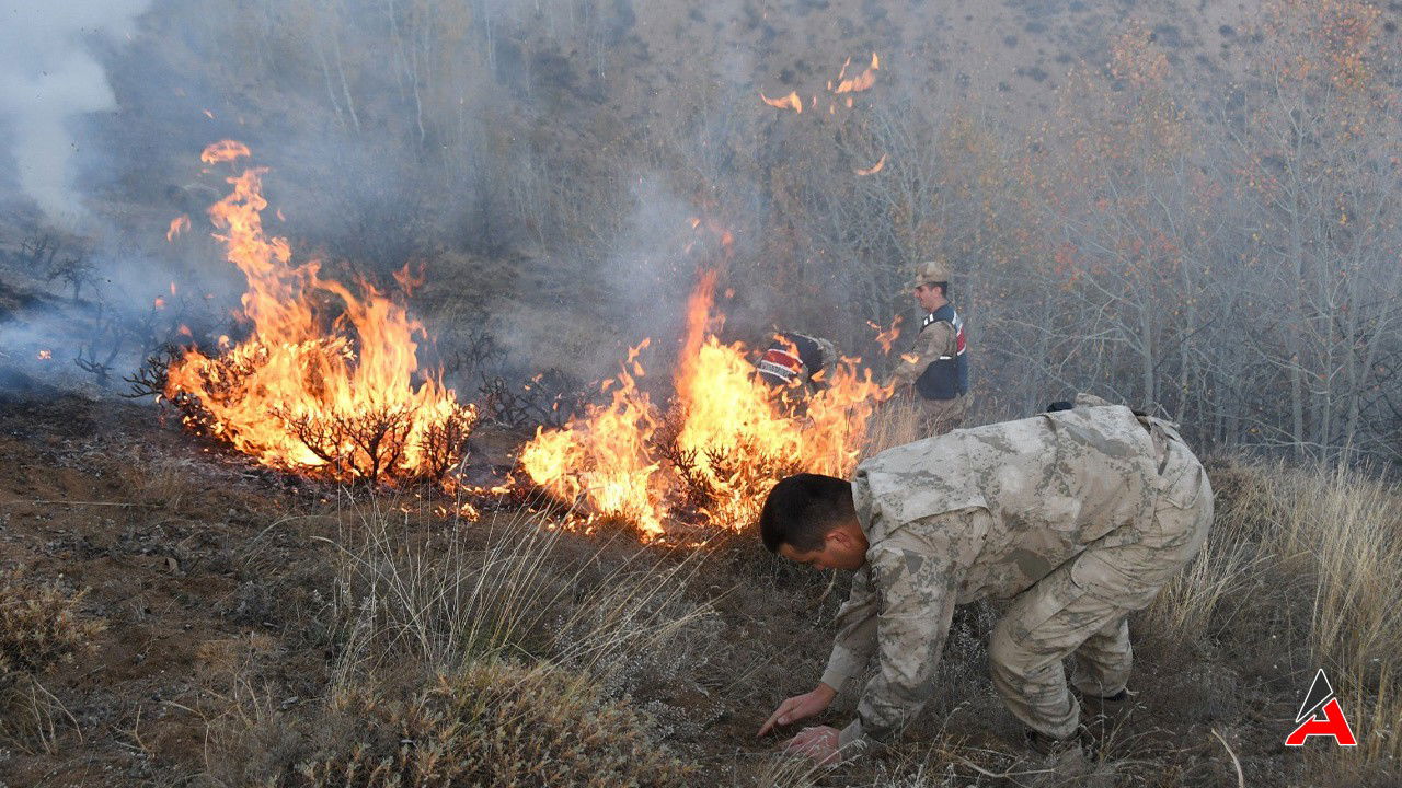
{"label": "camouflage trousers of the man bending to the ground", "polygon": [[[1213,522],[1213,492],[1197,458],[1178,439],[1154,432],[1159,495],[1147,522],[1124,526],[1018,595],[988,645],[993,684],[1028,728],[1071,736],[1084,694],[1113,695],[1129,679],[1129,614],[1154,602],[1202,548]],[[1122,533],[1122,531],[1131,533]]]}

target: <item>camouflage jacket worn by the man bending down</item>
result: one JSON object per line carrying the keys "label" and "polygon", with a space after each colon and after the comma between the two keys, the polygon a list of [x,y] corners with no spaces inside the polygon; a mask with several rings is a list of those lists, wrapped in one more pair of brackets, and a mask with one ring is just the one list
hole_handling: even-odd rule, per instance
{"label": "camouflage jacket worn by the man bending down", "polygon": [[873,653],[879,670],[844,754],[920,712],[956,604],[1016,596],[1092,541],[1133,540],[1120,527],[1151,515],[1155,460],[1134,414],[1108,405],[955,430],[859,464],[866,565],[837,614],[823,683],[843,691]]}

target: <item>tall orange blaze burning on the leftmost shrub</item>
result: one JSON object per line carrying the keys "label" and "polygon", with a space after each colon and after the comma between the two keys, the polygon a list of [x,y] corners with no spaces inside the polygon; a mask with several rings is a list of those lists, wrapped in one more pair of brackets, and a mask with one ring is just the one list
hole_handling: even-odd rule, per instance
{"label": "tall orange blaze burning on the leftmost shrub", "polygon": [[[248,156],[241,143],[209,146],[206,164]],[[220,337],[206,356],[186,348],[167,370],[165,398],[191,429],[257,461],[336,481],[451,487],[472,405],[457,402],[440,374],[418,367],[423,328],[369,282],[324,279],[320,262],[292,262],[286,238],[264,234],[266,201],[248,168],[209,209],[215,237],[243,271],[248,290],[241,342]]]}

